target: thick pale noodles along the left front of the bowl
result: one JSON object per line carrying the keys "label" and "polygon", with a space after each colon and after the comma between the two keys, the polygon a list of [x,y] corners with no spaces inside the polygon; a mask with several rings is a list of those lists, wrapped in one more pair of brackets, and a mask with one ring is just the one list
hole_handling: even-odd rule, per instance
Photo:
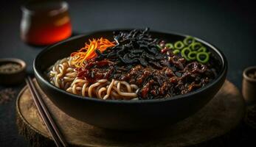
{"label": "thick pale noodles along the left front of the bowl", "polygon": [[69,93],[90,98],[101,99],[134,99],[137,98],[137,85],[130,85],[125,81],[116,79],[99,79],[97,82],[89,83],[86,79],[79,79],[75,66],[70,64],[70,57],[58,60],[49,68],[47,76],[50,83],[66,90]]}

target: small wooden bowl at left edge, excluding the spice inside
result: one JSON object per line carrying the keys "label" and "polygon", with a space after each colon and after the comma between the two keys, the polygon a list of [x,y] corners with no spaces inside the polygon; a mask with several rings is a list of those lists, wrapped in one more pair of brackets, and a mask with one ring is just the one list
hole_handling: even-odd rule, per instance
{"label": "small wooden bowl at left edge, excluding the spice inside", "polygon": [[16,85],[24,81],[26,76],[26,63],[23,60],[16,58],[2,58],[0,59],[0,65],[7,63],[15,63],[21,65],[18,71],[13,73],[1,73],[0,72],[0,84],[1,85]]}

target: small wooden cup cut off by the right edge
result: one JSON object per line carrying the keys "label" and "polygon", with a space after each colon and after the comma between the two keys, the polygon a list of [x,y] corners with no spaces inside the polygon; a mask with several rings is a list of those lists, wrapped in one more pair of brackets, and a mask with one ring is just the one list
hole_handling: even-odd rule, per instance
{"label": "small wooden cup cut off by the right edge", "polygon": [[249,77],[249,73],[255,73],[256,66],[251,66],[243,71],[242,93],[246,103],[256,102],[256,79]]}

